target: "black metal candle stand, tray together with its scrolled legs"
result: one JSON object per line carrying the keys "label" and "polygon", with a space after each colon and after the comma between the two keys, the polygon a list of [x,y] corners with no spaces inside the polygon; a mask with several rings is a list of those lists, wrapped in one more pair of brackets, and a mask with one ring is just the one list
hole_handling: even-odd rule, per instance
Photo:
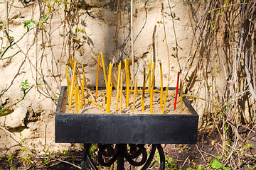
{"label": "black metal candle stand, tray together with its scrolled legs", "polygon": [[[160,169],[164,169],[161,144],[196,143],[198,114],[185,97],[183,102],[191,114],[68,114],[61,113],[64,91],[67,91],[67,86],[62,86],[56,108],[55,142],[83,143],[82,169],[87,169],[86,160],[92,169],[97,169],[89,154],[92,144],[98,144],[97,161],[100,165],[111,166],[117,161],[117,169],[121,170],[124,169],[124,159],[133,166],[147,169],[156,149]],[[149,157],[145,144],[151,144]],[[142,158],[137,162],[139,156]]]}

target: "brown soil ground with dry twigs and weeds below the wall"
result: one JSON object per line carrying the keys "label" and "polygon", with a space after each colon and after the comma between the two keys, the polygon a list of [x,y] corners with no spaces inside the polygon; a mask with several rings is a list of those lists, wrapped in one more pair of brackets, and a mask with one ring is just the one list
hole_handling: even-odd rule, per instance
{"label": "brown soil ground with dry twigs and weeds below the wall", "polygon": [[[255,136],[253,130],[248,130],[248,128],[240,126],[238,129],[241,137]],[[253,135],[252,135],[253,133]],[[228,133],[227,133],[228,134]],[[252,139],[252,138],[251,138]],[[240,162],[240,166],[236,169],[249,169],[255,166],[255,143],[248,138],[248,143],[251,143],[251,147],[242,147],[245,154],[241,154],[242,157],[235,157],[235,154],[230,154],[234,162]],[[230,134],[230,146],[233,145],[233,135]],[[238,145],[244,145],[244,142],[237,142]],[[224,155],[225,149],[223,149],[223,142],[218,133],[218,130],[207,129],[198,131],[198,142],[196,145],[162,145],[164,148],[164,153],[166,156],[166,169],[214,169],[212,162],[214,159],[219,158],[219,162],[225,167],[230,167],[232,162],[225,162],[225,159],[220,158],[220,155]],[[94,155],[97,154],[97,149],[95,149]],[[12,159],[13,169],[78,169],[73,166],[75,164],[80,166],[82,150],[68,150],[63,151],[63,153],[54,153],[50,157],[61,159],[65,162],[70,162],[67,164],[65,162],[60,162],[56,159],[41,159],[32,158],[30,164],[23,163],[21,157],[14,157]],[[150,169],[159,169],[158,154],[156,152]],[[228,157],[228,154],[227,154]],[[94,160],[95,157],[93,157]],[[227,159],[230,160],[230,159]],[[11,169],[11,162],[7,158],[0,159],[0,169]],[[100,169],[109,169],[106,167],[101,167]],[[133,166],[127,166],[126,169],[134,169]]]}

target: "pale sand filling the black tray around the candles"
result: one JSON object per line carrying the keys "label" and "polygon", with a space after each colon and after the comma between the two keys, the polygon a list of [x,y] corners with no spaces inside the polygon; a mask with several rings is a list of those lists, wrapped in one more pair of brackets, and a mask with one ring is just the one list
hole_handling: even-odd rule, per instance
{"label": "pale sand filling the black tray around the candles", "polygon": [[[95,90],[92,90],[92,95],[95,97]],[[183,114],[183,115],[190,115],[191,112],[188,110],[186,107],[185,103],[183,102],[183,111],[181,112],[181,101],[177,101],[176,109],[174,109],[174,100],[175,100],[175,94],[173,94],[174,91],[168,91],[168,97],[166,100],[166,107],[164,110],[164,114]],[[85,92],[85,95],[87,93]],[[165,94],[165,91],[164,91]],[[111,98],[111,104],[110,104],[110,113],[109,114],[121,114],[119,113],[119,110],[116,110],[117,106],[117,91],[113,90],[112,91],[112,98]],[[96,102],[106,108],[105,103],[107,103],[107,94],[106,90],[100,90],[98,91],[98,98],[96,98]],[[88,98],[90,101],[92,100],[92,97],[90,95],[85,96]],[[133,108],[133,101],[134,101],[134,93],[130,93],[129,95],[129,107],[125,107],[126,103],[126,92],[123,92],[122,96],[122,114],[150,114],[150,94],[145,93],[145,98],[144,98],[144,111],[142,111],[142,104],[141,104],[141,98],[142,98],[142,93],[139,92],[139,96],[136,96],[136,102],[135,102],[135,110],[134,112],[132,111]],[[164,100],[164,99],[163,99]],[[72,108],[71,111],[68,111],[68,91],[65,89],[64,94],[63,94],[63,102],[61,105],[60,113],[75,113],[75,101],[73,97],[73,103],[72,103]],[[120,98],[119,98],[119,103],[118,107],[120,107]],[[153,114],[161,114],[161,109],[160,109],[160,93],[154,92],[153,95]],[[84,105],[82,106],[81,109],[78,110],[78,113],[85,113],[85,114],[105,114],[106,111],[105,109],[102,109],[98,106],[95,106],[92,103],[88,103],[87,101],[84,101]]]}

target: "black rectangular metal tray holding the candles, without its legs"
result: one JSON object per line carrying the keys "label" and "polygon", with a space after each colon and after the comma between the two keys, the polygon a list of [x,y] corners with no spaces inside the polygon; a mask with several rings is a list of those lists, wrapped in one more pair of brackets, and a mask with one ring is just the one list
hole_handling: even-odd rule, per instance
{"label": "black rectangular metal tray holding the candles, without its legs", "polygon": [[[174,90],[175,88],[169,88]],[[55,113],[55,142],[106,144],[195,144],[198,114],[187,98],[191,115],[60,113],[62,86]]]}

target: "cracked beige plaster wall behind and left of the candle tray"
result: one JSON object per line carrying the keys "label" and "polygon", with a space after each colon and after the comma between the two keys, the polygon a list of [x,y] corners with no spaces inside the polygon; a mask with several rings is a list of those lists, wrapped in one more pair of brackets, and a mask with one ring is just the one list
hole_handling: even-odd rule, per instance
{"label": "cracked beige plaster wall behind and left of the candle tray", "polygon": [[[48,3],[51,7],[48,6]],[[14,1],[9,3],[9,34],[18,40],[26,33],[23,21],[33,19],[41,21],[49,8],[54,11],[63,4],[53,1]],[[144,63],[153,56],[152,36],[156,25],[156,70],[158,62],[163,63],[164,86],[167,85],[168,42],[170,58],[170,86],[176,85],[176,74],[179,64],[183,66],[188,52],[188,42],[192,31],[188,18],[187,6],[183,1],[163,1],[164,21],[161,15],[159,1],[134,1],[134,57],[135,72],[142,80]],[[85,67],[89,85],[95,85],[95,60],[91,54],[103,52],[105,64],[111,61],[119,62],[130,56],[130,4],[129,1],[85,1],[78,4],[68,4],[53,13],[42,27],[33,29],[24,36],[6,54],[7,60],[0,61],[0,104],[8,106],[23,96],[21,82],[28,79],[30,85],[35,85],[24,101],[14,106],[7,115],[0,115],[0,125],[16,137],[19,132],[26,137],[25,144],[31,149],[41,152],[43,147],[50,150],[70,149],[70,144],[55,144],[54,113],[60,86],[66,84],[65,64],[68,55],[76,57],[78,67]],[[117,13],[115,13],[117,11]],[[0,2],[0,21],[6,26],[6,2]],[[163,22],[165,24],[163,24]],[[31,23],[33,25],[33,23]],[[85,33],[78,31],[85,30]],[[174,30],[176,35],[174,34]],[[4,38],[4,34],[1,33]],[[178,42],[178,59],[176,57],[176,40]],[[6,39],[0,40],[1,47],[6,45]],[[179,64],[178,64],[179,62]],[[100,86],[105,82],[101,72]],[[156,76],[156,86],[160,86],[160,76]],[[139,81],[142,86],[142,81]],[[29,119],[30,118],[30,119]],[[11,135],[0,130],[0,157],[14,154],[18,147]],[[39,144],[39,145],[38,145]]]}

